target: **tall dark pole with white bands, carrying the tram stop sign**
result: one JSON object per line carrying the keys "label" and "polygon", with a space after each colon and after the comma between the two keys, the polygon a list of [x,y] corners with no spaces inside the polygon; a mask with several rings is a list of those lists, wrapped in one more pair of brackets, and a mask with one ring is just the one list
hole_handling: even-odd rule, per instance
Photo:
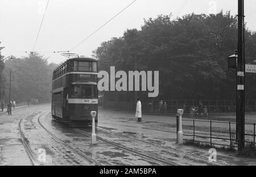
{"label": "tall dark pole with white bands, carrying the tram stop sign", "polygon": [[238,153],[245,147],[244,0],[238,0],[237,138]]}

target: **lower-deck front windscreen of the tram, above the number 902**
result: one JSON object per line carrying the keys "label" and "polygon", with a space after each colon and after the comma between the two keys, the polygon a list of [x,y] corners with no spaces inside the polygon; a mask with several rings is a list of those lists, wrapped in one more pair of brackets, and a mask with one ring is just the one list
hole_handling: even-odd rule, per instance
{"label": "lower-deck front windscreen of the tram, above the number 902", "polygon": [[69,98],[97,98],[97,86],[73,85],[69,91]]}

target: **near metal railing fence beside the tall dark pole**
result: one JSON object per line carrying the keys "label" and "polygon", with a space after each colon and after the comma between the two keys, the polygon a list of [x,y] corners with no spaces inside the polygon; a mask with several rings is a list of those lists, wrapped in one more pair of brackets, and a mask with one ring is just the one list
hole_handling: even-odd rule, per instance
{"label": "near metal railing fence beside the tall dark pole", "polygon": [[[198,123],[197,126],[196,123]],[[215,125],[213,126],[213,124]],[[194,143],[200,142],[210,146],[228,146],[230,149],[237,147],[236,123],[234,122],[183,119],[183,127],[183,136],[188,137],[184,140],[190,140]],[[251,127],[253,127],[253,130]],[[245,124],[245,142],[255,145],[255,123]]]}

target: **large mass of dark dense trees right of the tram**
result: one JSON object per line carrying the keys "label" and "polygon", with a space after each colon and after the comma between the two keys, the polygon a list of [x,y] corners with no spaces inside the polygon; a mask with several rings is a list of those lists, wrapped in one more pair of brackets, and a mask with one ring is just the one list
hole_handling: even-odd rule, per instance
{"label": "large mass of dark dense trees right of the tram", "polygon": [[[227,57],[237,49],[237,32],[237,17],[230,12],[176,20],[159,15],[144,20],[140,30],[127,29],[122,37],[105,41],[94,57],[101,70],[159,70],[160,99],[236,99],[236,75],[227,69]],[[245,37],[246,62],[252,64],[256,34],[246,29]],[[246,76],[247,98],[256,99],[255,76]],[[134,100],[133,92],[109,94]]]}

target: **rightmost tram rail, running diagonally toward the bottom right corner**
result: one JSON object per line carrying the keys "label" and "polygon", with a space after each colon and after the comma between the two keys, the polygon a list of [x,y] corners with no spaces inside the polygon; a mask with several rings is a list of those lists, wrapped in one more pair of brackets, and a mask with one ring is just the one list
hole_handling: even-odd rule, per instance
{"label": "rightmost tram rail, running diagonally toward the bottom right corner", "polygon": [[[108,133],[110,133],[110,134],[114,134],[114,133],[111,132],[110,130],[106,130],[106,129],[104,129],[104,128],[98,127],[97,129],[102,130],[102,131],[104,131],[104,132],[108,132]],[[116,135],[116,134],[114,134],[114,135]],[[145,144],[145,145],[154,146],[156,149],[163,149],[163,150],[166,150],[167,153],[170,154],[170,155],[176,155],[175,153],[170,152],[170,150],[175,150],[175,151],[177,151],[177,153],[184,153],[183,151],[181,151],[181,150],[179,150],[179,149],[168,149],[167,147],[163,147],[163,146],[156,145],[156,144],[150,144],[150,143],[148,143],[148,142],[146,142],[146,141],[137,140],[136,138],[131,138],[130,136],[125,136],[125,135],[123,135],[123,134],[122,134],[122,135],[121,135],[121,134],[117,134],[117,136],[123,137],[123,138],[129,138],[129,140],[137,141],[137,142],[139,142],[140,144],[143,143],[143,144]],[[185,154],[185,155],[184,155],[184,158],[185,158],[185,159],[188,159],[188,160],[191,160],[191,161],[193,161],[193,162],[197,162],[197,163],[202,163],[202,162],[204,162],[204,163],[206,163],[207,165],[217,165],[216,163],[211,163],[211,162],[209,162],[208,159],[202,159],[202,158],[199,158],[199,157],[197,157],[196,155],[192,155],[192,154],[189,154],[189,155],[188,155],[188,154]],[[220,162],[219,162],[219,163],[220,163]],[[225,164],[225,163],[220,163],[220,165],[227,165],[227,164]]]}

